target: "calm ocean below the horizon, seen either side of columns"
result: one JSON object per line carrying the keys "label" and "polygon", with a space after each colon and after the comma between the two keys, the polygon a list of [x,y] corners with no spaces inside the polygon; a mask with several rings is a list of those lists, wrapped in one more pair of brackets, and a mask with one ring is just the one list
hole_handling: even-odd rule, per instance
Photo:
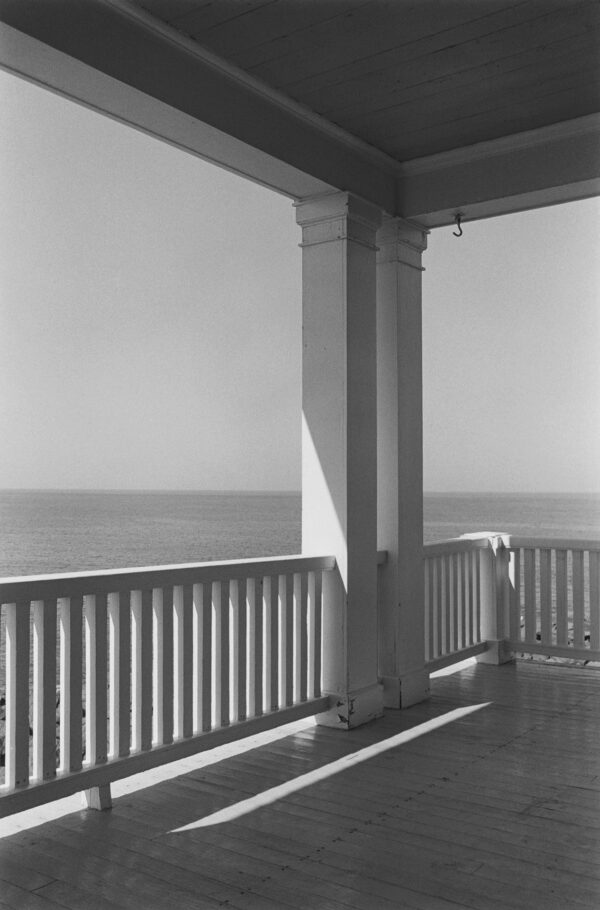
{"label": "calm ocean below the horizon, seen either side of columns", "polygon": [[[0,492],[0,577],[300,551],[298,493]],[[600,494],[426,493],[426,543],[600,536]]]}

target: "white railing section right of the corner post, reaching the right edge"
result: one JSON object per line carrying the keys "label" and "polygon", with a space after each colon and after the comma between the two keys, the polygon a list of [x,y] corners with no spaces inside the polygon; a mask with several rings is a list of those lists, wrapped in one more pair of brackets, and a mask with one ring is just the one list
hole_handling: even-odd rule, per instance
{"label": "white railing section right of the corner post, reaching the right edge", "polygon": [[600,541],[503,535],[517,652],[600,660]]}

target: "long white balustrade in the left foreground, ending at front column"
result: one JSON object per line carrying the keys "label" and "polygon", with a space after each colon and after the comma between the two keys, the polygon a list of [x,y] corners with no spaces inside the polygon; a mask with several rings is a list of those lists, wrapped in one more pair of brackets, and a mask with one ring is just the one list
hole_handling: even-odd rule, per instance
{"label": "long white balustrade in the left foreground, ending at front column", "polygon": [[0,815],[97,799],[120,777],[326,710],[334,567],[281,557],[0,581]]}

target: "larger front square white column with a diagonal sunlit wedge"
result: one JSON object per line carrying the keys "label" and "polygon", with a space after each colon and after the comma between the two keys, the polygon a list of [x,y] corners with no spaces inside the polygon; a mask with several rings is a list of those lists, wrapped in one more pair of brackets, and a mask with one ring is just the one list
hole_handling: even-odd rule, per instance
{"label": "larger front square white column with a diagonal sunlit wedge", "polygon": [[379,209],[348,193],[301,200],[302,549],[325,573],[319,722],[349,729],[382,710],[377,681],[376,231]]}

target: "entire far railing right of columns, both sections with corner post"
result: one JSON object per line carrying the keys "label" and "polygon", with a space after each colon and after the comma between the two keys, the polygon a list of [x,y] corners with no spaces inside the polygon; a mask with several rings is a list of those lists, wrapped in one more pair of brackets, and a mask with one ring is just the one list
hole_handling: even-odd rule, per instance
{"label": "entire far railing right of columns, both sections with corner post", "polygon": [[426,545],[424,567],[428,669],[483,652],[600,661],[600,541],[469,535]]}

